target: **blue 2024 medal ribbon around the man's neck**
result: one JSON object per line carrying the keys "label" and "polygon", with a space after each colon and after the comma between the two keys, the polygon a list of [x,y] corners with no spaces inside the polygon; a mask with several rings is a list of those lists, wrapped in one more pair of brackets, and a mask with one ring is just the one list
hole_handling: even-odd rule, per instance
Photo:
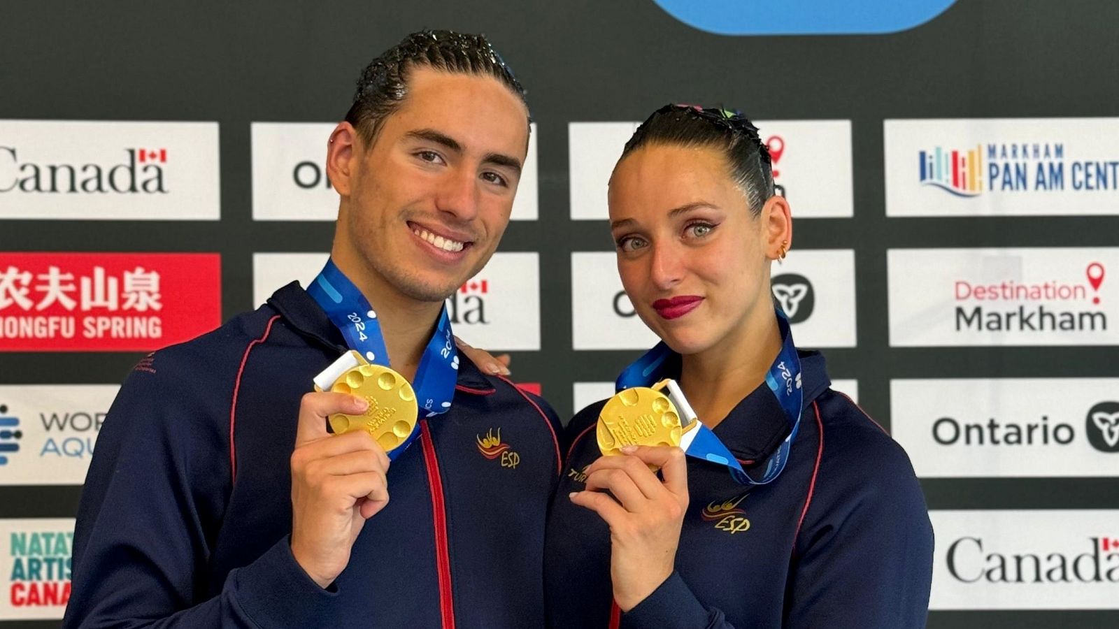
{"label": "blue 2024 medal ribbon around the man's neck", "polygon": [[[346,345],[350,349],[364,356],[369,363],[392,367],[376,311],[354,282],[335,265],[333,260],[327,260],[327,265],[307,288],[307,292],[326,311],[327,317],[346,338]],[[422,409],[421,414],[426,411],[426,415],[423,416],[431,417],[451,410],[458,368],[459,354],[454,347],[451,320],[446,316],[444,306],[439,316],[435,334],[427,341],[427,347],[420,358],[420,367],[412,385],[416,393],[416,403]],[[395,460],[419,435],[420,423],[416,422],[412,434],[404,443],[388,452],[389,460]]]}

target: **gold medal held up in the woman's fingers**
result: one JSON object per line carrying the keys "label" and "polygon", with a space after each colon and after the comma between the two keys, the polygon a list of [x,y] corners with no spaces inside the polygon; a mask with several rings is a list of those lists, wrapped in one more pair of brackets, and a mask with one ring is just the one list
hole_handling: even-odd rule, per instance
{"label": "gold medal held up in the woman's fingers", "polygon": [[627,445],[680,444],[685,432],[680,413],[662,392],[669,382],[627,388],[606,402],[595,432],[603,454],[621,454]]}

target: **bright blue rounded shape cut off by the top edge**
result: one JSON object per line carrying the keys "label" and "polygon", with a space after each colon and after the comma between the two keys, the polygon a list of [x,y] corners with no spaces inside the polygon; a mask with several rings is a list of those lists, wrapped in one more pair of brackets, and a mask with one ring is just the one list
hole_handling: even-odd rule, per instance
{"label": "bright blue rounded shape cut off by the top edge", "polygon": [[716,35],[873,35],[909,30],[956,0],[653,0],[681,22]]}

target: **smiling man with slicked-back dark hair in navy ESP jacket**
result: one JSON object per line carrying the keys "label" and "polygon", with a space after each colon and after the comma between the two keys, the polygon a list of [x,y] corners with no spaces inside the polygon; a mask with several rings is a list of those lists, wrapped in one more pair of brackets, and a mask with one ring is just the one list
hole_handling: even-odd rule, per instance
{"label": "smiling man with slicked-back dark hair in navy ESP jacket", "polygon": [[[414,34],[366,68],[328,145],[341,199],[320,279],[368,306],[338,323],[333,297],[293,282],[138,367],[86,479],[65,626],[544,623],[558,421],[459,360],[442,314],[508,224],[528,131],[482,37]],[[364,430],[327,431],[372,412],[361,397],[307,393],[347,349],[384,364],[369,336],[420,405],[392,463]],[[457,368],[445,403],[433,368]]]}

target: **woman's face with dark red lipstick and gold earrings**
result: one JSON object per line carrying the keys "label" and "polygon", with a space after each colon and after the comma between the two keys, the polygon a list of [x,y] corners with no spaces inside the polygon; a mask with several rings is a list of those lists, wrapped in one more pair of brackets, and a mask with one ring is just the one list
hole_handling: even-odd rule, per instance
{"label": "woman's face with dark red lipstick and gold earrings", "polygon": [[718,149],[646,144],[614,168],[609,201],[622,285],[673,350],[741,347],[752,321],[773,316],[770,260],[791,240],[788,205],[774,197],[753,216]]}

